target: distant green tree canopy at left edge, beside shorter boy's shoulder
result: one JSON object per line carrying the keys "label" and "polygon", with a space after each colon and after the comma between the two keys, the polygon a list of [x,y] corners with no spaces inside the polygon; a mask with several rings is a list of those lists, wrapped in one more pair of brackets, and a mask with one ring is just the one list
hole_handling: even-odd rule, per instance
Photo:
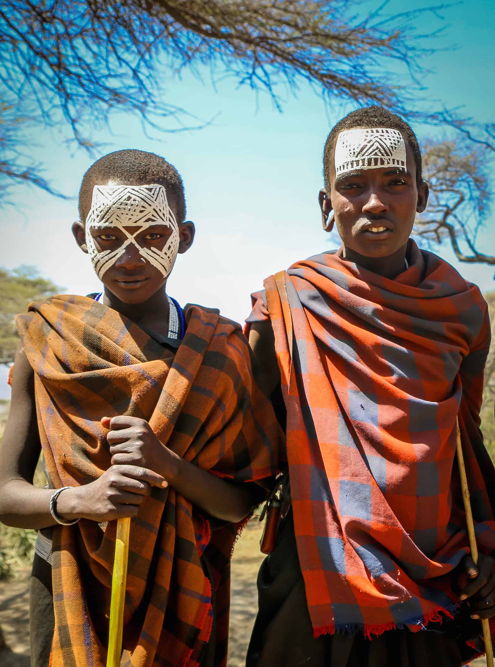
{"label": "distant green tree canopy at left edge, beside shorter boy's shoulder", "polygon": [[63,287],[40,277],[32,266],[7,271],[0,269],[0,364],[11,364],[17,350],[14,317],[25,311],[29,301],[60,293]]}

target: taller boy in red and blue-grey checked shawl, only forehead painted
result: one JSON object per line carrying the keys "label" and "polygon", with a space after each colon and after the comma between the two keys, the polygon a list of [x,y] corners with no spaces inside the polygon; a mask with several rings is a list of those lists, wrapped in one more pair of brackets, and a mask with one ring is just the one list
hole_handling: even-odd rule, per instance
{"label": "taller boy in red and blue-grey checked shawl, only forehead painted", "polygon": [[282,392],[289,504],[258,575],[247,666],[457,667],[484,651],[478,619],[495,614],[486,303],[410,239],[428,185],[402,119],[350,113],[323,161],[323,228],[340,248],[268,277],[247,319],[265,391]]}

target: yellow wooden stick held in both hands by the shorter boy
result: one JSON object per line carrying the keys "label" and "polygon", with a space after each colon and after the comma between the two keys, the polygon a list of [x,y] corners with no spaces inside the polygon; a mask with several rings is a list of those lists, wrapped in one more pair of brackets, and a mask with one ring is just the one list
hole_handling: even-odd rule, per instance
{"label": "yellow wooden stick held in both hands by the shorter boy", "polygon": [[131,518],[117,520],[117,538],[115,540],[115,560],[113,562],[112,576],[112,597],[110,602],[107,667],[119,667],[121,664],[125,581],[127,579],[130,526]]}

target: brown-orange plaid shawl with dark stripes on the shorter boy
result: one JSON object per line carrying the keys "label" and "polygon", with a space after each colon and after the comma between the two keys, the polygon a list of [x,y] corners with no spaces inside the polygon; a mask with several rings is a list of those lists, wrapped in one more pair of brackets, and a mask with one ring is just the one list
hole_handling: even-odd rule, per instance
{"label": "brown-orange plaid shawl with dark stripes on the shorter boy", "polygon": [[[239,482],[275,472],[278,426],[254,382],[239,325],[186,307],[175,358],[137,325],[87,297],[31,303],[17,326],[35,370],[41,444],[55,488],[86,484],[110,465],[103,416],[148,420],[171,450]],[[52,667],[103,667],[117,522],[55,528]],[[172,488],[153,490],[131,522],[125,667],[195,667],[212,626],[217,584],[217,664],[225,664],[229,562],[239,525],[210,531]]]}

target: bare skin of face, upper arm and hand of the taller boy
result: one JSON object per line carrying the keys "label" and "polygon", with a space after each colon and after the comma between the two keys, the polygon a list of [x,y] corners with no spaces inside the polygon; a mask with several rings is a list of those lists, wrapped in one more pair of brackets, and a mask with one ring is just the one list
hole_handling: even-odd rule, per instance
{"label": "bare skin of face, upper arm and hand of the taller boy", "polygon": [[[424,211],[428,201],[428,185],[416,182],[414,153],[406,137],[404,141],[406,172],[364,169],[336,177],[332,156],[328,165],[330,191],[323,188],[318,193],[323,229],[330,232],[335,225],[342,241],[340,257],[389,279],[404,271],[414,217]],[[270,396],[280,383],[280,370],[269,320],[252,323],[249,344],[263,371],[264,392]],[[475,565],[471,556],[464,556],[454,576],[454,588],[461,600],[468,600],[472,618],[494,616],[495,559],[479,554]]]}

